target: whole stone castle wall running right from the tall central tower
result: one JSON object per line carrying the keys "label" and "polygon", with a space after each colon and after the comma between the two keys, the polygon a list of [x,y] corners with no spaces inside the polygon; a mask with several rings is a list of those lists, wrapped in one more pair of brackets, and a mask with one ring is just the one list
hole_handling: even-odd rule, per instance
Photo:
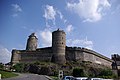
{"label": "whole stone castle wall running right from the tall central tower", "polygon": [[69,61],[89,61],[100,65],[105,65],[111,68],[112,60],[96,53],[95,51],[80,48],[80,47],[67,47],[66,59]]}

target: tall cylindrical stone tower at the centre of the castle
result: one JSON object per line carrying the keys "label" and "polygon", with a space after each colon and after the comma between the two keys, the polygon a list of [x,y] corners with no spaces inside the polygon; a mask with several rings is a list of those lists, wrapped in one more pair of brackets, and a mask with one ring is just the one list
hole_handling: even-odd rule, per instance
{"label": "tall cylindrical stone tower at the centre of the castle", "polygon": [[66,34],[63,30],[52,33],[53,62],[58,64],[66,63],[65,59]]}

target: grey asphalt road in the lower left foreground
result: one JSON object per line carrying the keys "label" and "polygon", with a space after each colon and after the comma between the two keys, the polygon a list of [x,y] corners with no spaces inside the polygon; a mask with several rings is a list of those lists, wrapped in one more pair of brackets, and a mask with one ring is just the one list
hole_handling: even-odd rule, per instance
{"label": "grey asphalt road in the lower left foreground", "polygon": [[6,78],[2,80],[49,80],[45,77],[45,75],[37,75],[37,74],[20,74],[17,77]]}

